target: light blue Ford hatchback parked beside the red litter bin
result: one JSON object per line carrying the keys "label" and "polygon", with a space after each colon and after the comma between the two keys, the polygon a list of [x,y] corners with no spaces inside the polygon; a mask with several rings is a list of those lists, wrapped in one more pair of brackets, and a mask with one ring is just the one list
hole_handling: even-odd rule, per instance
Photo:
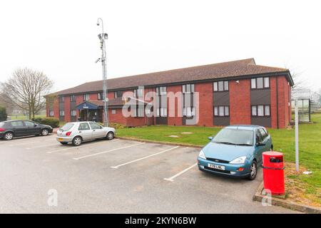
{"label": "light blue Ford hatchback parked beside the red litter bin", "polygon": [[230,177],[254,180],[262,153],[273,149],[271,135],[258,125],[231,125],[208,138],[198,155],[198,168]]}

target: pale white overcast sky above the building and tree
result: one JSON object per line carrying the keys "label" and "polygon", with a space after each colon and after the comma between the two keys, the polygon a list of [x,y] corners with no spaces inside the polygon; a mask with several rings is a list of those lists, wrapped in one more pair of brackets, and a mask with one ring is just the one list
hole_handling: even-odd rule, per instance
{"label": "pale white overcast sky above the building and tree", "polygon": [[100,80],[101,17],[108,78],[255,58],[318,90],[320,9],[320,1],[293,0],[4,1],[0,81],[24,66],[44,71],[53,91]]}

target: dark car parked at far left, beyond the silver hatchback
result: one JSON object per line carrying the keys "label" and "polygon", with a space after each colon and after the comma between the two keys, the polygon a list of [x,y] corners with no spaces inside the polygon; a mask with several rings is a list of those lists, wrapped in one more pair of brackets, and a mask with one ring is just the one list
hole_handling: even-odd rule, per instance
{"label": "dark car parked at far left, beyond the silver hatchback", "polygon": [[12,140],[14,137],[28,135],[49,135],[52,128],[49,125],[36,123],[31,120],[7,120],[0,122],[0,138]]}

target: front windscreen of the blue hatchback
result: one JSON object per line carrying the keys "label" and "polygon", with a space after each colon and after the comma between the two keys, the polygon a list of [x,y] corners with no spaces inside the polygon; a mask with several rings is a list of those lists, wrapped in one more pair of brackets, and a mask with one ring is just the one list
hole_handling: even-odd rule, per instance
{"label": "front windscreen of the blue hatchback", "polygon": [[231,145],[253,145],[253,130],[224,128],[215,135],[213,142]]}

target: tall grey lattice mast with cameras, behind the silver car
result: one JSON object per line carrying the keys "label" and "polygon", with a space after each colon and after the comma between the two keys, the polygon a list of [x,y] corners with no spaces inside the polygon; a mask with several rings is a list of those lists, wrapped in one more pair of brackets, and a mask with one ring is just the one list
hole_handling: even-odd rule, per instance
{"label": "tall grey lattice mast with cameras, behind the silver car", "polygon": [[103,19],[98,18],[97,26],[101,24],[101,33],[98,34],[98,38],[101,41],[101,58],[98,58],[98,61],[101,61],[101,66],[103,68],[103,125],[108,127],[108,88],[107,88],[107,72],[106,72],[106,44],[105,40],[108,38],[108,34],[103,32]]}

